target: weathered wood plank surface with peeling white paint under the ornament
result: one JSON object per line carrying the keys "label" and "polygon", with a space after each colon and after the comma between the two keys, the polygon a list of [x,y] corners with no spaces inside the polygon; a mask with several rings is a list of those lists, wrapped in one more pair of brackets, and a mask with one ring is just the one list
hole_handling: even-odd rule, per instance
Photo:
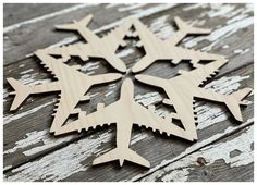
{"label": "weathered wood plank surface with peeling white paint under the ornament", "polygon": [[[103,10],[102,8],[107,9]],[[140,21],[148,25],[149,28],[162,39],[168,38],[174,33],[173,27],[170,25],[174,16],[182,17],[182,20],[186,21],[188,24],[194,24],[199,27],[203,25],[210,27],[213,32],[209,36],[188,38],[181,44],[181,46],[186,46],[186,48],[227,55],[229,59],[228,64],[221,69],[218,76],[210,84],[207,84],[205,88],[215,88],[217,92],[225,95],[244,87],[253,88],[254,18],[252,4],[179,4],[175,7],[162,4],[161,8],[159,4],[146,4],[142,7],[138,4],[120,4],[118,7],[101,4],[95,5],[94,8],[85,7],[81,9],[81,11],[71,11],[60,16],[34,22],[29,24],[30,26],[27,25],[25,27],[21,26],[20,28],[9,29],[4,33],[4,36],[8,35],[8,37],[4,38],[3,76],[5,181],[145,180],[150,174],[155,174],[155,172],[160,171],[161,173],[164,166],[169,164],[172,166],[174,162],[179,162],[189,153],[194,155],[198,149],[205,146],[211,146],[213,141],[223,138],[227,139],[228,136],[233,136],[234,133],[253,124],[254,104],[250,103],[250,101],[253,101],[253,95],[247,98],[249,100],[248,107],[243,109],[243,118],[245,118],[245,120],[242,124],[233,123],[233,119],[230,119],[230,113],[224,111],[225,108],[220,109],[216,104],[197,101],[196,111],[199,114],[197,126],[199,140],[197,143],[188,144],[178,138],[163,138],[145,128],[135,128],[135,131],[133,131],[131,148],[152,161],[152,166],[150,170],[145,170],[137,165],[126,164],[120,169],[118,164],[112,163],[99,166],[91,166],[90,163],[96,156],[107,152],[107,149],[113,146],[115,141],[113,126],[108,130],[90,131],[87,134],[82,133],[79,135],[68,135],[59,138],[54,138],[48,134],[52,121],[50,116],[52,114],[51,110],[57,100],[56,96],[29,98],[27,103],[22,107],[22,110],[15,114],[10,113],[8,109],[11,106],[12,97],[9,97],[8,92],[11,91],[11,86],[8,85],[5,78],[11,76],[21,79],[27,85],[51,82],[51,76],[46,74],[44,69],[38,64],[39,60],[35,57],[26,57],[26,54],[32,53],[38,48],[56,44],[69,35],[72,36],[71,34],[61,34],[60,36],[60,33],[52,33],[51,29],[54,24],[64,23],[64,20],[68,20],[66,17],[70,20],[79,20],[84,17],[85,14],[89,12],[93,13],[93,9],[95,9],[99,17],[97,18],[99,21],[98,25],[95,25],[95,28],[97,28],[96,32],[99,33],[99,35],[105,35],[109,28],[117,25],[117,23],[112,24],[114,20],[125,17],[128,14],[137,14]],[[100,16],[100,14],[105,14],[105,12],[110,16]],[[63,17],[63,20],[61,20],[61,17]],[[100,17],[105,18],[102,20]],[[29,27],[33,27],[33,33],[29,32]],[[25,35],[19,36],[20,32]],[[24,41],[26,42],[26,40],[32,41],[35,34],[38,34],[40,39],[30,42],[29,47],[23,47],[22,44]],[[12,37],[12,41],[10,37]],[[68,41],[76,40],[76,37],[71,38],[72,39],[62,42],[68,44]],[[16,46],[13,45],[15,41],[17,41]],[[14,48],[15,52],[11,53],[10,47]],[[134,47],[121,50],[119,55],[126,62],[128,67],[134,64],[133,61],[137,61],[143,57]],[[79,63],[79,60],[74,59],[74,63]],[[97,60],[88,64],[83,64],[83,69],[86,74],[101,74],[111,71],[109,65],[102,64],[102,62]],[[147,69],[144,74],[155,74],[159,77],[170,78],[176,74],[178,70],[188,70],[189,66],[186,63],[181,63],[172,70],[167,69],[170,69],[169,62],[157,62]],[[166,97],[163,91],[152,91],[152,88],[143,87],[139,84],[135,85],[135,99],[137,102],[144,106],[154,103],[157,106],[159,113],[169,111],[167,108],[160,106],[162,98]],[[105,102],[105,104],[114,102],[119,97],[119,87],[120,84],[111,84],[109,86],[99,86],[91,89],[89,91],[91,102],[85,109],[90,112],[94,111],[99,101]],[[98,91],[101,91],[101,94],[97,94]],[[231,139],[228,138],[228,140]],[[155,150],[155,152],[151,152],[151,149]],[[237,144],[235,148],[231,150],[232,156],[238,153],[236,149],[243,151],[245,155],[252,152],[249,150],[244,151],[242,144]],[[210,177],[210,181],[231,181],[233,180],[233,173],[242,174],[237,175],[236,181],[245,181],[247,177],[252,181],[254,176],[252,170],[253,158],[249,157],[248,159],[248,162],[240,162],[238,166],[229,166],[227,163],[222,162],[224,159],[217,159],[216,162],[207,166],[207,171],[205,166],[203,166],[203,171],[196,171],[193,166],[192,171],[188,170],[192,174],[186,175],[189,177],[185,177],[184,180],[204,181],[204,177],[199,180],[199,177],[195,176],[196,173],[203,172],[206,174],[213,169],[212,173],[216,174],[216,177]],[[191,165],[189,162],[185,162],[185,165],[186,163]],[[215,169],[219,172],[215,171]],[[225,171],[228,171],[227,174],[224,174]],[[170,180],[170,176],[168,175],[167,178]],[[242,176],[242,178],[240,176]]]}

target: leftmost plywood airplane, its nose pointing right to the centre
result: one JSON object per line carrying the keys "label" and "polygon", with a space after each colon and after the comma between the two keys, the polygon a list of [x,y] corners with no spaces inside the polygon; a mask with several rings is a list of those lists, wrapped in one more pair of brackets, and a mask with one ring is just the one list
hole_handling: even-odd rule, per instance
{"label": "leftmost plywood airplane, its nose pointing right to the centre", "polygon": [[122,77],[119,73],[88,76],[77,71],[75,65],[75,67],[72,67],[63,63],[61,58],[54,59],[46,54],[45,50],[38,50],[35,54],[58,81],[27,87],[14,78],[8,78],[7,81],[15,89],[14,92],[11,92],[15,95],[15,98],[10,110],[17,109],[29,95],[61,91],[59,103],[56,104],[58,108],[50,130],[51,133],[58,131],[70,114],[78,113],[75,107],[79,101],[89,100],[89,96],[86,92],[91,86],[113,82]]}

